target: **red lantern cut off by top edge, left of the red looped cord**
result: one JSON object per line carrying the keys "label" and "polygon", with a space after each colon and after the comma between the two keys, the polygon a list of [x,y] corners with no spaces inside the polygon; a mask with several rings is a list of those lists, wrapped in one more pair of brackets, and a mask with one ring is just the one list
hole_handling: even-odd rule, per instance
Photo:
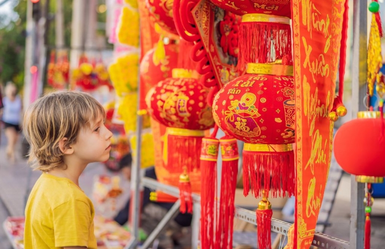
{"label": "red lantern cut off by top edge, left of the red looped cord", "polygon": [[152,21],[172,34],[178,35],[173,19],[174,0],[146,0],[146,7]]}

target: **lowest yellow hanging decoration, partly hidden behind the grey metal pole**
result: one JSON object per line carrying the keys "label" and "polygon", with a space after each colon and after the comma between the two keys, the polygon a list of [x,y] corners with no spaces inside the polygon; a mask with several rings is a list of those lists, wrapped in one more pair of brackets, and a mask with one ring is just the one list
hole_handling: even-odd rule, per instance
{"label": "lowest yellow hanging decoration, partly hidden behind the grey metal pole", "polygon": [[[130,138],[130,144],[131,144],[133,159],[135,159],[136,153],[137,153],[135,135]],[[155,162],[155,150],[154,150],[153,134],[143,133],[141,155],[140,155],[140,167],[148,168],[148,167],[154,166],[154,162]]]}

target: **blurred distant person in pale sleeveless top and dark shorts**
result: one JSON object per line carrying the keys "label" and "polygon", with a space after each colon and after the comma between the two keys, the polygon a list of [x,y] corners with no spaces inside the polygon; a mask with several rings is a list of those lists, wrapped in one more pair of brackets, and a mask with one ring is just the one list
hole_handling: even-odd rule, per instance
{"label": "blurred distant person in pale sleeveless top and dark shorts", "polygon": [[15,145],[18,140],[20,128],[20,115],[23,109],[22,99],[17,95],[16,85],[8,82],[5,89],[5,97],[3,98],[4,108],[2,109],[2,121],[5,127],[5,135],[7,137],[7,157],[14,163],[15,161]]}

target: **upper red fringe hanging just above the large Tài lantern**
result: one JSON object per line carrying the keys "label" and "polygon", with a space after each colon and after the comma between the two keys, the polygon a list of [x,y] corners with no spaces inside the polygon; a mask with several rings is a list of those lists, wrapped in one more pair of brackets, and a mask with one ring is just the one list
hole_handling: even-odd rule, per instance
{"label": "upper red fringe hanging just above the large T\u00e0i lantern", "polygon": [[[274,50],[275,53],[272,53]],[[292,64],[290,25],[276,22],[242,22],[239,35],[238,65],[269,63],[286,58]]]}

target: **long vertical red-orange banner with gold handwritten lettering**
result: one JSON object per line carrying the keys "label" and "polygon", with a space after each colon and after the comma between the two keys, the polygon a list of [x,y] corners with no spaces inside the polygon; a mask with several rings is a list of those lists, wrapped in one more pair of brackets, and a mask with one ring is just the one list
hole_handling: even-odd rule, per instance
{"label": "long vertical red-orange banner with gold handwritten lettering", "polygon": [[333,104],[346,0],[292,0],[296,217],[286,248],[310,247],[331,161]]}

